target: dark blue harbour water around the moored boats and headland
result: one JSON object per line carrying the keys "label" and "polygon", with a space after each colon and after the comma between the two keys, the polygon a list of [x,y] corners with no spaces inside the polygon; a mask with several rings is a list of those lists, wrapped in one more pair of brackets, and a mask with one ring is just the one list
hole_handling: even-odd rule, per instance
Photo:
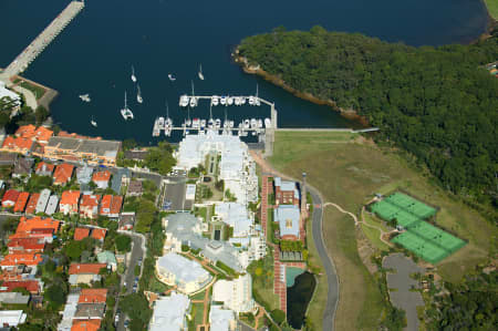
{"label": "dark blue harbour water around the moored boats and headland", "polygon": [[[0,1],[0,66],[18,53],[64,8],[66,0]],[[153,121],[165,113],[179,124],[187,115],[178,96],[196,94],[248,95],[276,103],[279,126],[351,127],[326,106],[299,100],[263,80],[243,74],[231,63],[230,51],[245,37],[278,25],[361,32],[387,41],[439,45],[469,42],[485,32],[486,9],[480,0],[251,0],[166,1],[89,0],[86,8],[31,64],[24,75],[61,94],[51,111],[64,130],[107,138],[135,137],[148,143]],[[197,79],[203,63],[205,81]],[[144,104],[136,103],[131,65],[135,65]],[[177,75],[170,83],[167,73]],[[118,111],[124,90],[136,120],[125,123]],[[90,93],[83,103],[79,94]],[[225,117],[217,107],[215,116]],[[230,107],[228,116],[267,117],[268,107]],[[208,117],[205,102],[190,115]],[[94,116],[98,127],[90,125]],[[357,124],[356,124],[357,125]]]}

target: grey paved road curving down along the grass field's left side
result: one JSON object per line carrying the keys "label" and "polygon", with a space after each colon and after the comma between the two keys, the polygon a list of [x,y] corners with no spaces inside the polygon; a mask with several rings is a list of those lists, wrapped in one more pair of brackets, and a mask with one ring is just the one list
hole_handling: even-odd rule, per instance
{"label": "grey paved road curving down along the grass field's left side", "polygon": [[[311,194],[311,197],[313,199],[313,204],[323,206],[323,201],[319,195],[319,193],[310,187],[307,186],[308,192]],[[323,331],[326,330],[334,330],[334,318],[335,318],[335,311],[338,309],[338,302],[339,302],[339,279],[338,273],[335,272],[335,266],[332,263],[332,259],[329,257],[326,252],[326,247],[323,240],[323,209],[320,208],[313,208],[313,215],[312,215],[312,221],[313,221],[313,240],[314,245],[317,246],[317,250],[320,255],[320,259],[323,262],[323,267],[325,268],[326,273],[326,282],[329,283],[329,294],[326,296],[326,306],[323,313]]]}

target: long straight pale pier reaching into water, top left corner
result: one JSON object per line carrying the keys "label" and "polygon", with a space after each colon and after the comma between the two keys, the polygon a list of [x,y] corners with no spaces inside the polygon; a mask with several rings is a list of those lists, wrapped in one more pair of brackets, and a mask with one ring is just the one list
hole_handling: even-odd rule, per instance
{"label": "long straight pale pier reaching into water, top left corner", "polygon": [[9,81],[23,72],[37,56],[64,30],[85,7],[84,1],[71,1],[68,7],[6,68],[0,79]]}

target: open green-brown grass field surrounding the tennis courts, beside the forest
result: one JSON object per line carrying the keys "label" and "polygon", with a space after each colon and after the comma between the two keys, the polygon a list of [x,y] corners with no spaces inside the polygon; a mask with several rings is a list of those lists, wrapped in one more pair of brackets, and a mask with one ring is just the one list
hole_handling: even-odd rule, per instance
{"label": "open green-brown grass field surrounding the tennis courts, beside the forest", "polygon": [[[429,183],[421,170],[413,169],[404,157],[392,151],[382,149],[356,134],[277,132],[273,156],[269,161],[277,169],[295,178],[299,178],[302,172],[307,172],[308,183],[320,189],[325,200],[339,204],[356,215],[375,193],[386,194],[400,188],[440,207],[436,218],[438,226],[469,241],[466,247],[437,266],[439,273],[446,280],[459,280],[466,271],[483,261],[491,248],[494,234],[495,236],[497,234],[496,229],[476,211]],[[332,211],[329,210],[325,215],[328,227],[330,213]],[[342,276],[341,288],[344,288],[341,289],[341,294],[349,287],[361,292],[354,293],[357,299],[351,301],[341,297],[338,323],[344,320],[346,312],[361,311],[364,307],[375,307],[377,298],[376,289],[362,286],[373,282],[373,277],[359,272],[360,267],[351,262],[356,260],[353,258],[354,254],[346,251],[346,246],[338,245],[334,240],[336,239],[334,236],[341,235],[340,239],[346,237],[355,242],[351,219],[349,223],[351,227],[335,225],[335,229],[340,232],[334,234],[329,229],[325,237],[334,261],[341,260],[341,257],[344,260],[338,265],[340,278]],[[372,232],[365,235],[373,236]],[[356,251],[355,245],[353,247]],[[357,252],[355,255],[357,256]],[[344,258],[345,256],[349,256],[349,259]],[[369,321],[372,322],[374,319],[365,318],[362,322],[364,329],[375,328],[375,323],[369,325]]]}

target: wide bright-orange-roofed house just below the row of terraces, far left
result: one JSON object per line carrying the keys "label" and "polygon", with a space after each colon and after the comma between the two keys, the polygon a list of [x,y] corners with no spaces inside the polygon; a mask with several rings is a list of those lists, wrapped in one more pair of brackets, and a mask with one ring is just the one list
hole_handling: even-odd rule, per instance
{"label": "wide bright-orange-roofed house just below the row of terraces, far left", "polygon": [[11,235],[9,239],[15,238],[38,238],[45,242],[52,242],[53,236],[59,231],[61,223],[52,218],[41,218],[35,216],[28,219],[21,217],[15,234]]}

